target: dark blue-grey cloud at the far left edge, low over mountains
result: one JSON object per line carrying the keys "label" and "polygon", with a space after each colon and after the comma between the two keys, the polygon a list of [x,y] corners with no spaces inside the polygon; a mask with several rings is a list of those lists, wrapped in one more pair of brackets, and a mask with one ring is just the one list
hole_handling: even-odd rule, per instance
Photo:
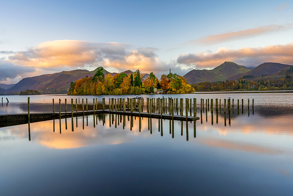
{"label": "dark blue-grey cloud at the far left edge, low over mountains", "polygon": [[13,79],[34,72],[33,67],[23,67],[13,65],[8,61],[0,61],[0,81],[6,81],[8,78]]}

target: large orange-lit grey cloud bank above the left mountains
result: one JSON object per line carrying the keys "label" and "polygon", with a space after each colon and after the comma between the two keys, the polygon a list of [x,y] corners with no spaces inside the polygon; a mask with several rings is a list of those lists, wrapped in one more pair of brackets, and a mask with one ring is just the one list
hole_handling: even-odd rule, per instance
{"label": "large orange-lit grey cloud bank above the left mountains", "polygon": [[160,70],[155,48],[137,48],[129,50],[129,44],[98,43],[78,40],[46,41],[26,51],[19,51],[8,57],[16,65],[36,68],[81,68],[103,66],[125,71]]}

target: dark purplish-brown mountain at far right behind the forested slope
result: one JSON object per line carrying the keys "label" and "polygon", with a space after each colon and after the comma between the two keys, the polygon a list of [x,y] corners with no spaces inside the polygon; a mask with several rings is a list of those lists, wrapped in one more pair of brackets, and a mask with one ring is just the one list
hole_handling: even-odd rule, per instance
{"label": "dark purplish-brown mountain at far right behind the forested slope", "polygon": [[259,66],[257,66],[256,68],[254,68],[251,71],[248,71],[247,73],[245,73],[245,76],[263,76],[263,75],[272,75],[272,74],[276,74],[279,71],[290,67],[292,65],[285,65],[285,64],[281,64],[281,63],[263,63],[260,64]]}

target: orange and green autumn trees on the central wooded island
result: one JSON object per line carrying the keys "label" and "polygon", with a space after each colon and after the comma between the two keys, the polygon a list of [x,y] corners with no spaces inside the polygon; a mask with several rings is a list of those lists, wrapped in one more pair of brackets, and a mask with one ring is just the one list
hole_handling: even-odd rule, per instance
{"label": "orange and green autumn trees on the central wooded island", "polygon": [[137,69],[129,75],[118,73],[115,76],[104,75],[98,69],[93,77],[86,76],[76,82],[71,82],[68,95],[122,95],[154,93],[154,90],[167,90],[169,93],[191,93],[194,88],[186,80],[172,73],[163,74],[160,80],[153,72],[145,80]]}

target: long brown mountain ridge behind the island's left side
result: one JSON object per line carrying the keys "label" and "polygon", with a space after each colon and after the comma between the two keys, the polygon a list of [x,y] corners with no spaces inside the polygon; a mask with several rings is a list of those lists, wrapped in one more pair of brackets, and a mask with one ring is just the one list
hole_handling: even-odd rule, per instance
{"label": "long brown mountain ridge behind the island's left side", "polygon": [[[110,72],[105,70],[103,67],[98,67],[103,69],[103,73],[107,76]],[[85,69],[76,69],[72,71],[62,71],[59,73],[44,74],[40,76],[23,78],[14,86],[8,88],[7,90],[1,88],[1,93],[16,93],[21,91],[26,91],[28,89],[38,90],[41,94],[64,94],[68,92],[68,88],[71,82],[76,82],[81,78],[88,76],[89,78],[94,76],[96,68],[93,71],[88,71]],[[121,73],[133,73],[130,70]],[[118,73],[110,73],[111,76],[115,76]],[[143,73],[142,76],[148,77],[149,74]],[[146,79],[146,78],[143,78]]]}

